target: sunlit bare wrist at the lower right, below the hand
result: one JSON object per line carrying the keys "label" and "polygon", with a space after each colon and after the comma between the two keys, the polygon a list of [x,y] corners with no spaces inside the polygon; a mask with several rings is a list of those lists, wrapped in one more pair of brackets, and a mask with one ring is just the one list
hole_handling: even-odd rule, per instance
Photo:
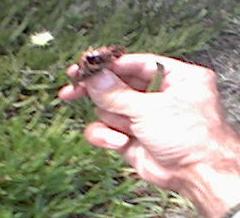
{"label": "sunlit bare wrist at the lower right, below the hand", "polygon": [[174,189],[206,218],[223,217],[240,203],[240,139],[232,131],[217,143],[208,157],[183,167],[175,177]]}

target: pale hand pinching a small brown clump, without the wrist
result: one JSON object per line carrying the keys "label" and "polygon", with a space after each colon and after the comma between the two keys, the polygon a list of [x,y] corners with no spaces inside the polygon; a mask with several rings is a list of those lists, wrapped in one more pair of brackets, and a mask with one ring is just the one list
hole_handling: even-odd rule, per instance
{"label": "pale hand pinching a small brown clump, without the wrist", "polygon": [[[156,62],[165,66],[161,91],[145,93]],[[68,74],[77,69],[73,65]],[[172,168],[205,158],[209,140],[221,131],[215,75],[203,67],[151,54],[124,55],[110,69],[75,89],[65,87],[59,95],[72,100],[88,93],[100,120],[87,127],[86,138],[121,152],[144,179],[168,188]]]}

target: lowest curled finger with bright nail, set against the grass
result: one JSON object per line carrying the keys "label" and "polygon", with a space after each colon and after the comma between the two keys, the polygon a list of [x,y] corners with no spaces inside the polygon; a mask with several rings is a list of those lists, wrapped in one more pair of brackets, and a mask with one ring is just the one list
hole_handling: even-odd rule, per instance
{"label": "lowest curled finger with bright nail, set against the grass", "polygon": [[114,150],[121,149],[129,141],[127,135],[109,128],[102,122],[94,122],[88,125],[84,135],[91,144]]}

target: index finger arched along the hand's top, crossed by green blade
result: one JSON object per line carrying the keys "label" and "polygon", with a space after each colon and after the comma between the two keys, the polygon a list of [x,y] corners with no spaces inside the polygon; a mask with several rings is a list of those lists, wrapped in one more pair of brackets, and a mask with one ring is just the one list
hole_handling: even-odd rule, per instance
{"label": "index finger arched along the hand's top, crossed by green blade", "polygon": [[162,90],[174,87],[185,80],[196,81],[199,80],[198,77],[201,80],[206,79],[208,78],[206,75],[212,74],[211,70],[205,67],[154,54],[123,55],[114,61],[110,69],[121,78],[132,76],[149,83],[157,71],[157,62],[164,66]]}

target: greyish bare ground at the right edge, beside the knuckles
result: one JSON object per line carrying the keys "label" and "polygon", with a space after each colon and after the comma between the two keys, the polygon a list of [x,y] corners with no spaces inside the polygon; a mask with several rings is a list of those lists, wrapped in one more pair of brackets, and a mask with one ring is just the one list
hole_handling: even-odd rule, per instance
{"label": "greyish bare ground at the right edge, beside the knuckles", "polygon": [[240,130],[240,17],[213,40],[208,48],[186,57],[213,69],[218,75],[218,88],[227,120]]}

